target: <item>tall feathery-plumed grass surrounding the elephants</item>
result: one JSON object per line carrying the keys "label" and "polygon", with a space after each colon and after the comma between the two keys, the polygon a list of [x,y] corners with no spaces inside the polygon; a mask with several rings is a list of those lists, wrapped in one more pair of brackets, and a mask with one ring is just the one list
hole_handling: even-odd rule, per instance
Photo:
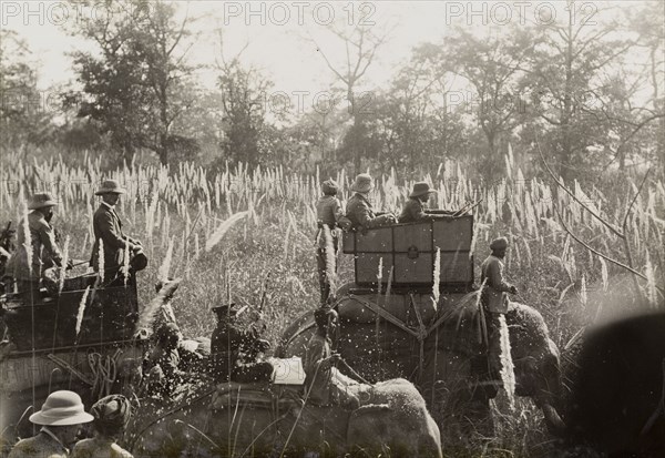
{"label": "tall feathery-plumed grass surrounding the elephants", "polygon": [[[33,163],[18,153],[6,154],[12,166],[0,169],[0,221],[16,224],[24,212],[25,196],[50,189],[60,202],[53,224],[70,238],[70,258],[88,259],[93,244],[91,218],[98,205],[95,186],[103,179],[120,180],[129,191],[119,205],[124,230],[144,242],[151,259],[139,275],[140,304],[150,303],[152,285],[165,271],[182,276],[173,306],[185,335],[209,336],[214,328],[209,308],[228,295],[252,306],[253,313],[241,317],[245,324],[259,317],[257,305],[268,273],[262,316],[268,324],[266,337],[273,343],[289,323],[319,303],[314,250],[317,175],[297,175],[282,167],[249,170],[244,164],[211,173],[186,162],[170,170],[141,164],[104,170],[92,155],[72,165],[62,153]],[[433,206],[457,208],[483,199],[474,210],[475,272],[489,253],[489,241],[507,235],[512,250],[505,268],[521,292],[518,301],[536,306],[560,347],[597,316],[638,306],[631,297],[634,285],[623,272],[576,244],[556,221],[559,212],[579,237],[622,258],[615,235],[570,195],[538,177],[524,177],[518,167],[494,183],[483,183],[454,163],[444,165],[442,175],[423,176],[438,191]],[[348,174],[341,170],[336,179],[345,190],[342,197],[348,199]],[[594,211],[622,221],[637,186],[630,177],[620,179],[598,181],[586,189],[567,185]],[[410,184],[399,182],[395,174],[377,177],[375,206],[399,211]],[[206,252],[203,246],[215,236],[215,230],[238,212],[247,212],[247,216],[228,227]],[[652,307],[658,302],[656,286],[665,278],[664,225],[665,183],[652,176],[626,218],[633,266],[647,278],[640,287]],[[351,256],[338,258],[339,284],[352,278],[352,264]],[[160,273],[161,265],[168,268]],[[535,456],[530,452],[542,442],[544,430],[536,410],[520,406],[507,414],[510,427],[491,438],[494,441],[490,440],[482,454],[509,450],[510,456]],[[482,444],[485,440],[479,439],[478,445]],[[454,450],[449,456],[490,456],[463,454]]]}

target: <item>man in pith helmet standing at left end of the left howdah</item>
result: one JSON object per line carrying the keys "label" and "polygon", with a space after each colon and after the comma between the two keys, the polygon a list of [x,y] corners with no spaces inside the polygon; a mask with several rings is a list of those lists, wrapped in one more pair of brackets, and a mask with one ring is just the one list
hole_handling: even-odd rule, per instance
{"label": "man in pith helmet standing at left end of the left howdah", "polygon": [[28,221],[25,217],[21,220],[18,228],[18,250],[7,263],[7,275],[16,279],[20,298],[25,304],[39,302],[39,286],[44,271],[53,266],[62,267],[62,254],[50,224],[55,205],[58,202],[48,192],[30,197]]}

